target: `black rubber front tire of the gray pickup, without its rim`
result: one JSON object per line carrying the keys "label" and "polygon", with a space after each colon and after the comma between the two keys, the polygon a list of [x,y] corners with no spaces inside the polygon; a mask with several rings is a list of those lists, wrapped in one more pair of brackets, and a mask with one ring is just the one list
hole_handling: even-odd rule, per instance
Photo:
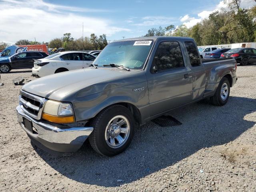
{"label": "black rubber front tire of the gray pickup, without its rim", "polygon": [[[108,141],[105,140],[105,133],[109,133],[107,130],[107,125],[110,123],[112,118],[116,116],[124,116],[129,121],[130,134],[128,134],[127,139],[124,140],[125,142],[120,147],[112,148],[107,143]],[[99,154],[102,154],[105,156],[114,156],[114,155],[120,154],[121,152],[126,150],[126,148],[129,146],[134,135],[136,124],[134,121],[134,117],[132,116],[132,113],[130,112],[130,110],[128,110],[128,108],[122,105],[113,105],[102,110],[92,120],[92,122],[90,122],[90,126],[94,128],[93,132],[89,136],[89,141],[92,148]],[[112,126],[114,126],[114,124]]]}

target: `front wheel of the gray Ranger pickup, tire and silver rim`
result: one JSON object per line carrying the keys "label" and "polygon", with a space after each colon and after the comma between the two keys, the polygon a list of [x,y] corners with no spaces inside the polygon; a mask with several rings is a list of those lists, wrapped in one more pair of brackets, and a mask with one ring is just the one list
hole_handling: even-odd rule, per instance
{"label": "front wheel of the gray Ranger pickup, tire and silver rim", "polygon": [[104,109],[90,125],[94,128],[89,136],[90,144],[96,152],[105,156],[114,156],[126,150],[135,129],[132,113],[121,105]]}

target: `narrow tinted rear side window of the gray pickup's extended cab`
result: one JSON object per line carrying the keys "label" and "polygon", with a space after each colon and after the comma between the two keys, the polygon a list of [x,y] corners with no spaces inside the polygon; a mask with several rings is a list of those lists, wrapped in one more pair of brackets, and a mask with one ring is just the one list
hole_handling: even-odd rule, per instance
{"label": "narrow tinted rear side window of the gray pickup's extended cab", "polygon": [[200,66],[201,62],[200,62],[198,51],[194,42],[185,41],[185,46],[188,51],[188,56],[189,56],[191,66],[192,67]]}

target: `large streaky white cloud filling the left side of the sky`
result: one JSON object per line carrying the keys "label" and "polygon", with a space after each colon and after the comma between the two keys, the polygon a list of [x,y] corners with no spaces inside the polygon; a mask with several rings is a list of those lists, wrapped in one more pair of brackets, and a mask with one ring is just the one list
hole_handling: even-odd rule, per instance
{"label": "large streaky white cloud filling the left side of the sky", "polygon": [[77,13],[105,10],[59,6],[42,0],[2,0],[0,7],[0,41],[16,42],[19,39],[36,37],[36,40],[46,42],[61,37],[66,32],[70,32],[74,38],[79,38],[82,36],[82,22],[84,36],[90,36],[91,33],[111,36],[116,32],[130,31],[112,26],[110,20],[81,16]]}

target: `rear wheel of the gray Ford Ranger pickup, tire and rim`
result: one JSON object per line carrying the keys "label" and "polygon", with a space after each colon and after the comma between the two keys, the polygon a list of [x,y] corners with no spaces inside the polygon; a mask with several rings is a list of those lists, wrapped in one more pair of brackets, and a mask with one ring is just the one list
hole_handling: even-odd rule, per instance
{"label": "rear wheel of the gray Ford Ranger pickup, tire and rim", "polygon": [[222,106],[228,102],[230,93],[230,83],[226,77],[220,80],[214,96],[210,97],[212,104]]}

